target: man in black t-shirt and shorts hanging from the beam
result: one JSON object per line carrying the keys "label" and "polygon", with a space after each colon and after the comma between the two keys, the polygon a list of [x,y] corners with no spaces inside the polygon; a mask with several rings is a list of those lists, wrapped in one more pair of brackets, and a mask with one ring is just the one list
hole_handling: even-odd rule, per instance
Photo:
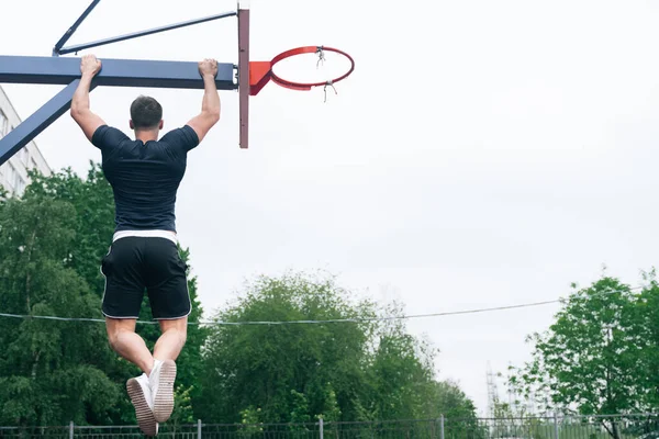
{"label": "man in black t-shirt and shorts hanging from the beam", "polygon": [[[220,120],[217,63],[199,63],[204,82],[201,112],[159,139],[163,109],[153,98],[139,97],[131,105],[134,140],[91,112],[89,88],[100,69],[101,61],[93,55],[82,57],[70,114],[101,150],[103,172],[114,193],[116,228],[101,261],[102,312],[112,348],[144,372],[130,379],[126,387],[139,428],[156,436],[158,423],[169,419],[174,410],[175,360],[186,342],[191,312],[188,267],[177,246],[176,194],[188,153]],[[145,290],[161,329],[153,354],[135,334]]]}

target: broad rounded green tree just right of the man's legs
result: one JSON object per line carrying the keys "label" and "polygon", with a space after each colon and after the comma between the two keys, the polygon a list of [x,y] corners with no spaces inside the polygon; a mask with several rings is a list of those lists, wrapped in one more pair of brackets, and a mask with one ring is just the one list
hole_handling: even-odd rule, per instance
{"label": "broad rounded green tree just right of the man's legs", "polygon": [[210,330],[202,380],[203,419],[283,423],[319,416],[355,418],[365,385],[368,322],[351,324],[236,325],[372,317],[370,304],[349,304],[332,280],[261,277]]}

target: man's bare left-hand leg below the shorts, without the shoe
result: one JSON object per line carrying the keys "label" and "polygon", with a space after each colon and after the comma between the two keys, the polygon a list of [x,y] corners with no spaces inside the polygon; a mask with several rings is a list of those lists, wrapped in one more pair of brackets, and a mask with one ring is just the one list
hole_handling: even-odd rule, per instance
{"label": "man's bare left-hand leg below the shorts, without the shoe", "polygon": [[154,367],[154,357],[142,337],[135,334],[136,322],[134,318],[105,317],[108,339],[116,353],[148,375]]}

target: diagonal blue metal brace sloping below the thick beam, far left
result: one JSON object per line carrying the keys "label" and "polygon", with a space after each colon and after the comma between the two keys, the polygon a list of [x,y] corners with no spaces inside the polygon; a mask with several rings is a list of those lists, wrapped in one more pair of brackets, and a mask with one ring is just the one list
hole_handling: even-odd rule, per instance
{"label": "diagonal blue metal brace sloping below the thick beam, far left", "polygon": [[[7,136],[0,138],[0,165],[4,164],[16,154],[30,140],[36,137],[42,131],[48,127],[53,122],[63,115],[71,106],[74,93],[78,88],[79,79],[75,79],[53,99],[42,105],[30,117],[24,120],[19,126],[13,128]],[[96,85],[92,81],[90,89]]]}

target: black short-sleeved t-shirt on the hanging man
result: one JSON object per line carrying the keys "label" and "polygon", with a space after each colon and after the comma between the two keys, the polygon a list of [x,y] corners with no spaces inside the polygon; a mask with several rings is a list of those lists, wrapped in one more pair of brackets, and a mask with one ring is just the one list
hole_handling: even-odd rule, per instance
{"label": "black short-sleeved t-shirt on the hanging man", "polygon": [[121,131],[100,126],[91,138],[114,192],[116,232],[176,232],[176,193],[186,173],[188,151],[199,145],[189,125],[159,140],[132,140]]}

